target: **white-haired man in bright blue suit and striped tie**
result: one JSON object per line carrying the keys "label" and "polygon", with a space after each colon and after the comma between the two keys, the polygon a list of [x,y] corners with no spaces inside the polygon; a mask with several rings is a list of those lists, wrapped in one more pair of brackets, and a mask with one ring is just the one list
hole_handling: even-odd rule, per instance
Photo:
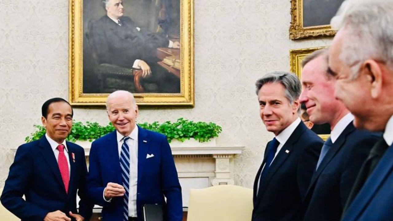
{"label": "white-haired man in bright blue suit and striped tie", "polygon": [[139,111],[130,92],[110,94],[107,112],[116,131],[92,143],[87,179],[103,219],[141,221],[144,204],[160,204],[165,220],[181,221],[182,192],[166,137],[136,125]]}

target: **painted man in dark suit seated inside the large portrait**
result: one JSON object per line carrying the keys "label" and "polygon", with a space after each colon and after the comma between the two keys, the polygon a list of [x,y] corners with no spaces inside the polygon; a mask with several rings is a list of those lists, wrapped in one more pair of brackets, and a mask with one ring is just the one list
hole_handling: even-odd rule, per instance
{"label": "painted man in dark suit seated inside the large portrait", "polygon": [[103,4],[107,15],[91,27],[98,63],[141,70],[142,84],[156,83],[159,93],[180,93],[180,79],[157,64],[157,48],[180,48],[180,43],[138,27],[123,16],[121,0],[104,0]]}

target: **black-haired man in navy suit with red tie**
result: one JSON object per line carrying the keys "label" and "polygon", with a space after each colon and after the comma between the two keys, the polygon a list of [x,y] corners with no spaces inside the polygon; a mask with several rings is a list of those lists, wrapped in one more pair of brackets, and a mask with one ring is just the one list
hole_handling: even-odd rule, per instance
{"label": "black-haired man in navy suit with red tie", "polygon": [[[18,147],[1,203],[24,221],[82,221],[92,215],[93,204],[85,195],[84,150],[65,141],[71,131],[72,116],[67,101],[49,99],[42,105],[45,136]],[[81,198],[79,213],[77,194]]]}

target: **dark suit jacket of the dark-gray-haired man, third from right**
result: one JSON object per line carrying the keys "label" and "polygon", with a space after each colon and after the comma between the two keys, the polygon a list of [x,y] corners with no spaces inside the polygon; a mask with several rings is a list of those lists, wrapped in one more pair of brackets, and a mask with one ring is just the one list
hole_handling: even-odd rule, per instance
{"label": "dark suit jacket of the dark-gray-haired man, third from right", "polygon": [[[267,144],[269,145],[269,144]],[[273,160],[257,195],[263,159],[254,182],[252,221],[299,220],[301,203],[318,162],[323,140],[300,122]]]}

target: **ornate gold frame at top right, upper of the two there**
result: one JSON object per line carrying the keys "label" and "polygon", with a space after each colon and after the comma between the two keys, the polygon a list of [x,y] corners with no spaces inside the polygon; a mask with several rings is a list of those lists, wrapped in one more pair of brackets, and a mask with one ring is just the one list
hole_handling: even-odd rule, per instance
{"label": "ornate gold frame at top right, upper of the two there", "polygon": [[337,33],[337,30],[332,29],[330,24],[303,27],[303,0],[291,0],[290,13],[291,24],[289,27],[289,39],[296,40],[316,37],[331,37]]}

